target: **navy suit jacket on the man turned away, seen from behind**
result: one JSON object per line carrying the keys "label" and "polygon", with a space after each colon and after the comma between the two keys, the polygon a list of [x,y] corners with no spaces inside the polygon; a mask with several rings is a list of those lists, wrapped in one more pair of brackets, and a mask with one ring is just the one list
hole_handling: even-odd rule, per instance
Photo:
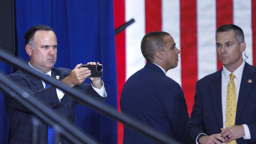
{"label": "navy suit jacket on the man turned away, seen from behind", "polygon": [[[180,85],[154,63],[133,74],[123,87],[122,113],[183,143],[187,142],[188,112]],[[153,140],[124,127],[124,144],[150,144]]]}

